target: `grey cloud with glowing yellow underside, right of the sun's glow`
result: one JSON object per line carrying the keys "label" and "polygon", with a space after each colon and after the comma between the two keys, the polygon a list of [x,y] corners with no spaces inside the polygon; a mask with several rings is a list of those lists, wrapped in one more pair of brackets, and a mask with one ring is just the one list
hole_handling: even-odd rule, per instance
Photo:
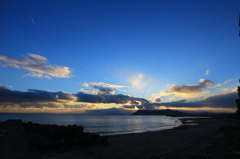
{"label": "grey cloud with glowing yellow underside, right of the sun's glow", "polygon": [[207,79],[200,79],[199,84],[194,85],[173,85],[170,90],[161,92],[161,95],[168,95],[168,94],[180,94],[183,96],[196,96],[201,93],[206,93],[208,91],[204,90],[204,88],[211,88],[214,86],[218,86],[216,83],[207,80]]}

